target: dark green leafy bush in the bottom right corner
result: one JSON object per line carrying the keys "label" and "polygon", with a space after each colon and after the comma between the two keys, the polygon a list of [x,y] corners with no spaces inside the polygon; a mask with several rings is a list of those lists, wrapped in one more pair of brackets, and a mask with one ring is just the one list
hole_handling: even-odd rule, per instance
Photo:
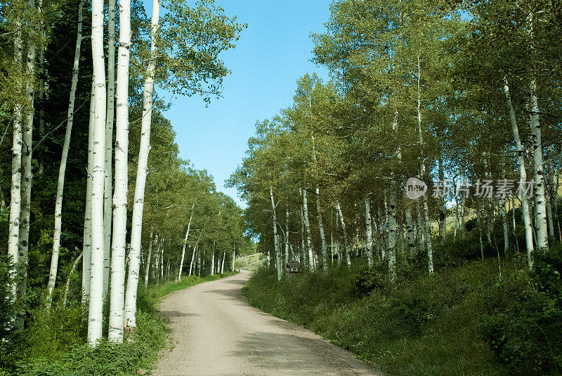
{"label": "dark green leafy bush in the bottom right corner", "polygon": [[507,279],[490,290],[481,332],[513,375],[562,371],[562,248],[535,251],[530,281]]}

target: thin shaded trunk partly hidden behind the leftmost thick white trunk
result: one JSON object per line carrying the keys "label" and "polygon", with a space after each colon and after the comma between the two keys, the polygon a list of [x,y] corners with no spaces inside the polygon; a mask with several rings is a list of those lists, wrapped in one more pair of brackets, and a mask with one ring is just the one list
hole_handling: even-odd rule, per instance
{"label": "thin shaded trunk partly hidden behind the leftmost thick white trunk", "polygon": [[96,102],[93,99],[94,83],[90,92],[90,121],[88,130],[88,166],[86,177],[86,210],[84,210],[84,236],[82,238],[84,257],[82,261],[82,302],[86,304],[90,300],[90,276],[91,276],[91,249],[92,249],[92,170],[93,170],[93,116]]}

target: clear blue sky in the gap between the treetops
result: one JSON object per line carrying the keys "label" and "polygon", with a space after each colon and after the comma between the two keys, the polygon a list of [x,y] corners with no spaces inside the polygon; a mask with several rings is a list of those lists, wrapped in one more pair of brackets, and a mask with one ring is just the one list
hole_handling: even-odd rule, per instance
{"label": "clear blue sky in the gap between the treetops", "polygon": [[[317,72],[328,77],[326,69],[309,61],[313,49],[309,34],[324,31],[330,1],[217,3],[227,15],[237,15],[238,22],[248,24],[237,47],[223,53],[223,61],[232,70],[224,79],[223,98],[212,100],[207,108],[200,97],[172,99],[164,116],[176,130],[181,157],[208,170],[217,189],[240,203],[235,189],[226,189],[223,183],[242,161],[256,120],[270,118],[291,105],[296,80],[303,74]],[[149,15],[150,4],[145,0]]]}

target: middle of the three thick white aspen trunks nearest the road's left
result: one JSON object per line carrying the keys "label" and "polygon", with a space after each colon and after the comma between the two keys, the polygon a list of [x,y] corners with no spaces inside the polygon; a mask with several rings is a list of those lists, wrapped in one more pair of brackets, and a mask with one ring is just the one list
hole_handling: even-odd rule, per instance
{"label": "middle of the three thick white aspen trunks nearest the road's left", "polygon": [[[125,248],[127,192],[129,189],[129,48],[131,46],[131,1],[119,1],[119,49],[115,119],[115,190],[111,242],[111,293],[109,340],[121,343],[125,323]],[[150,239],[152,241],[152,239]]]}

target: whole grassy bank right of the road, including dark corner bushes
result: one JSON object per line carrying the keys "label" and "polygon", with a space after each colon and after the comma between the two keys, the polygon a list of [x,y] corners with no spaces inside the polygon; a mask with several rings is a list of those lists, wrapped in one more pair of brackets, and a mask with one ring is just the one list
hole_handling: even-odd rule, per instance
{"label": "whole grassy bank right of the road, including dark corner bushes", "polygon": [[495,260],[405,274],[390,283],[356,266],[278,282],[262,268],[243,293],[388,375],[560,375],[562,311],[542,277],[504,262],[500,283]]}

